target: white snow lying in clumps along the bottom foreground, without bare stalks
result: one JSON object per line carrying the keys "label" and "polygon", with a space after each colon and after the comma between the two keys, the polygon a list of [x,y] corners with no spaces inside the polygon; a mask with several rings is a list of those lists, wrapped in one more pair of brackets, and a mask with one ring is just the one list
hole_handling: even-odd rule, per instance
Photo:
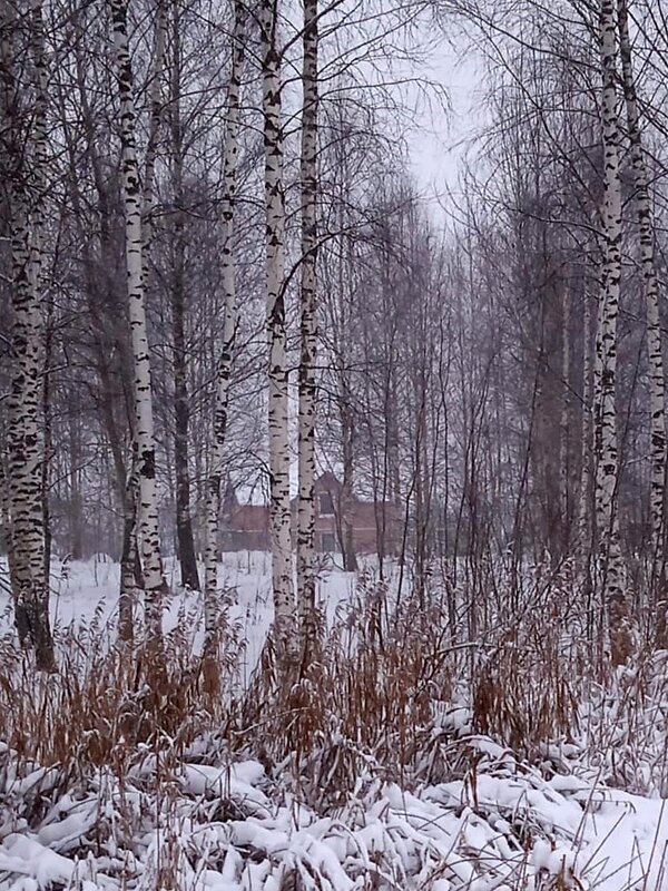
{"label": "white snow lying in clumps along the bottom foreground, without bare stalks", "polygon": [[[267,783],[262,765],[245,761],[235,768],[234,764],[184,765],[180,794],[170,811],[159,815],[153,832],[137,831],[130,840],[137,864],[131,869],[135,880],[127,887],[146,887],[143,881],[150,873],[160,839],[165,848],[165,840],[173,836],[177,853],[171,849],[170,856],[186,882],[178,887],[203,891],[271,891],[281,888],[281,875],[288,868],[320,877],[320,885],[305,887],[335,891],[362,888],[364,877],[372,874],[379,888],[407,891],[430,887],[424,883],[433,879],[431,888],[482,891],[502,888],[503,882],[512,888],[520,872],[527,877],[522,887],[528,889],[538,889],[538,879],[546,875],[563,877],[564,888],[640,889],[642,884],[633,883],[641,883],[645,875],[649,875],[648,889],[668,888],[664,879],[668,821],[658,800],[597,790],[583,782],[577,793],[558,791],[559,783],[532,773],[520,777],[482,774],[475,810],[464,781],[415,792],[387,783],[380,784],[372,799],[352,803],[335,816],[318,816],[302,806],[297,824],[292,803],[278,803],[285,791],[271,797],[259,787]],[[68,853],[71,842],[81,841],[104,813],[102,787],[98,782],[85,801],[65,802],[57,822],[3,835],[0,888],[47,889],[58,882],[77,888],[121,887],[114,873],[119,872],[119,863],[134,858],[121,855],[128,840],[122,838],[120,814],[115,843],[108,840],[102,845],[107,853],[99,862],[82,864],[73,852]],[[200,795],[235,800],[245,815],[202,823],[197,817]],[[596,811],[587,807],[587,801],[593,800],[600,802]],[[109,802],[114,809],[121,807],[118,789]],[[131,796],[122,806],[127,809],[129,802]],[[518,833],[511,829],[511,823],[522,822],[544,832],[528,849],[518,843]],[[195,869],[187,865],[193,862]],[[92,870],[95,878],[85,878],[86,870]],[[568,884],[571,875],[578,877],[579,885]],[[79,883],[71,884],[75,880]]]}

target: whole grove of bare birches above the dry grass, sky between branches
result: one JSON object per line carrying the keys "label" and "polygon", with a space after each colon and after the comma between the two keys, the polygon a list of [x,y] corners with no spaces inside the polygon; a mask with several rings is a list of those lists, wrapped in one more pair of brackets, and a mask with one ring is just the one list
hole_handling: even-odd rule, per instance
{"label": "whole grove of bare birches above the dry grass, sky between branches", "polygon": [[[202,609],[209,689],[265,560],[274,692],[305,695],[340,571],[374,642],[392,604],[418,624],[442,603],[469,646],[546,580],[601,673],[658,647],[650,7],[135,2],[108,0],[110,29],[2,7],[0,589],[26,649],[52,668],[50,589],[118,564],[128,660]],[[449,28],[487,117],[444,174],[421,115],[440,131],[448,88],[422,66]]]}

